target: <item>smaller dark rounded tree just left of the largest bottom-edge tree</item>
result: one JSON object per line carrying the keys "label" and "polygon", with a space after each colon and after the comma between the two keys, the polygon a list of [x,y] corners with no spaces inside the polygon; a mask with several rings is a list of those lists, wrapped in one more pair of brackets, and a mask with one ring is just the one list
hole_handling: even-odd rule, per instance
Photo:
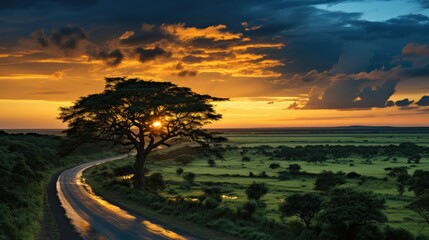
{"label": "smaller dark rounded tree just left of the largest bottom-edge tree", "polygon": [[315,193],[295,193],[286,197],[280,205],[282,217],[297,216],[308,227],[311,220],[320,211],[323,199]]}

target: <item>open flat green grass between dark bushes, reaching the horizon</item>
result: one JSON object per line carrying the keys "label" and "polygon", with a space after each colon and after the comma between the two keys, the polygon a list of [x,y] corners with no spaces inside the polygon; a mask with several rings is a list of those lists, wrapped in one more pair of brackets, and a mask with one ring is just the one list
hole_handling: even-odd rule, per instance
{"label": "open flat green grass between dark bushes, reaching the horizon", "polygon": [[[343,172],[346,176],[350,172],[361,175],[358,178],[347,177],[346,183],[340,187],[351,187],[361,191],[373,191],[386,200],[384,213],[388,218],[390,226],[404,228],[414,235],[429,235],[427,225],[420,221],[420,217],[406,206],[415,199],[411,191],[400,195],[397,191],[395,177],[389,177],[389,171],[385,169],[395,167],[407,167],[410,175],[417,169],[429,170],[429,156],[422,155],[418,164],[408,163],[405,156],[375,155],[363,158],[360,155],[351,154],[344,158],[329,157],[322,163],[313,163],[304,159],[285,160],[275,158],[272,153],[278,146],[305,146],[305,145],[353,145],[353,146],[398,146],[404,142],[415,143],[419,146],[429,146],[429,134],[417,133],[290,133],[290,132],[224,132],[229,139],[229,145],[224,153],[223,160],[216,160],[214,166],[208,164],[207,157],[198,155],[186,165],[175,161],[182,155],[189,156],[190,153],[183,152],[179,145],[169,149],[163,149],[155,153],[147,164],[151,173],[161,173],[166,182],[166,188],[160,194],[167,199],[182,197],[185,199],[198,199],[203,194],[202,187],[216,185],[223,190],[222,205],[232,209],[242,206],[246,201],[245,190],[253,182],[263,182],[268,186],[268,193],[262,197],[266,208],[264,216],[275,222],[281,223],[279,204],[286,196],[292,193],[315,192],[315,180],[322,171]],[[264,147],[260,147],[264,146]],[[271,146],[271,147],[269,147]],[[326,147],[326,146],[325,146]],[[263,149],[261,151],[261,149]],[[243,161],[248,157],[250,161]],[[214,159],[214,158],[212,158]],[[132,163],[133,158],[109,163],[87,170],[85,176],[89,183],[100,181],[97,177],[101,173],[111,172],[112,169]],[[270,164],[277,163],[280,167],[272,169]],[[279,178],[281,172],[286,171],[290,164],[301,166],[300,174],[292,178],[282,180]],[[178,168],[196,174],[195,183],[186,187],[183,174],[176,173]],[[263,174],[265,172],[265,174]],[[94,190],[104,191],[109,188],[108,180],[104,184],[94,183]],[[92,184],[91,184],[92,185]],[[113,189],[113,190],[112,190]],[[109,191],[118,190],[118,187],[109,188]],[[123,189],[122,189],[123,190]],[[121,191],[122,191],[121,190]],[[123,193],[123,191],[121,192]],[[297,220],[289,217],[286,222]]]}

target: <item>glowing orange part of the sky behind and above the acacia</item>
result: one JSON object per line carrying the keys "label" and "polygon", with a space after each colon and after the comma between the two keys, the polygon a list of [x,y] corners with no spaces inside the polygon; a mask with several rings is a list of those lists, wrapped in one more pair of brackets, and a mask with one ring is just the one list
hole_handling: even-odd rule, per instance
{"label": "glowing orange part of the sky behind and above the acacia", "polygon": [[[151,31],[154,27],[142,25],[143,31]],[[276,70],[287,63],[271,58],[268,51],[287,48],[287,42],[254,41],[241,33],[228,31],[224,25],[196,28],[164,24],[160,28],[177,40],[160,41],[146,48],[161,47],[168,54],[144,62],[137,57],[126,57],[118,66],[108,66],[109,59],[97,59],[88,54],[86,49],[94,44],[88,40],[80,42],[72,52],[55,46],[43,48],[29,38],[21,38],[13,48],[1,48],[0,128],[64,128],[66,126],[56,120],[58,108],[69,106],[79,96],[102,91],[106,76],[172,81],[199,93],[230,97],[231,101],[217,106],[224,119],[210,126],[216,128],[429,125],[428,112],[419,109],[288,110],[295,101],[308,99],[313,88],[296,80],[303,76],[291,75],[285,81],[284,75]],[[104,45],[108,49],[132,52],[132,47],[121,45],[120,41],[133,35],[133,31],[124,32]],[[219,47],[199,46],[193,42],[196,39],[209,39],[213,44],[235,42]],[[192,58],[183,61],[189,56]],[[390,99],[418,100],[425,91],[399,84]]]}

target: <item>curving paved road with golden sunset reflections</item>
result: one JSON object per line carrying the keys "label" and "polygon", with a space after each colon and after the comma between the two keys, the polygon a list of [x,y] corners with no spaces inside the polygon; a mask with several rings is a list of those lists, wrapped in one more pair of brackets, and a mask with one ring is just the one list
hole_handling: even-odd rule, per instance
{"label": "curving paved road with golden sunset reflections", "polygon": [[196,239],[131,214],[96,196],[82,180],[92,166],[126,155],[98,160],[62,172],[56,182],[57,195],[76,230],[84,239]]}

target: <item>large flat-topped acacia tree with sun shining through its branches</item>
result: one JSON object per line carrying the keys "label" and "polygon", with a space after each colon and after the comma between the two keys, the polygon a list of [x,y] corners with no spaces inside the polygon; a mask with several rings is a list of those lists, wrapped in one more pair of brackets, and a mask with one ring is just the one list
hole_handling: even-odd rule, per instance
{"label": "large flat-topped acacia tree with sun shining through its branches", "polygon": [[223,140],[202,127],[222,118],[212,103],[227,98],[198,94],[171,82],[125,77],[105,80],[102,93],[60,108],[59,119],[68,123],[70,139],[105,140],[135,149],[136,187],[145,187],[148,154],[162,145],[170,146],[172,139],[189,138],[203,147]]}

